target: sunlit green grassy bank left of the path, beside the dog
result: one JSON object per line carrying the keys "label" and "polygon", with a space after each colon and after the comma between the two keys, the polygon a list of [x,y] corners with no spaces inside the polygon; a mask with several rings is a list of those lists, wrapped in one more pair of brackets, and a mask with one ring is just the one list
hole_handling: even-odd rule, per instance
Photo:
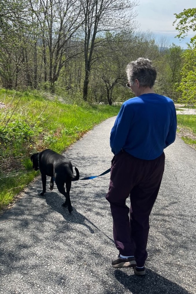
{"label": "sunlit green grassy bank left of the path, beside the dog", "polygon": [[[45,96],[45,97],[44,97]],[[0,90],[0,210],[38,174],[30,155],[45,148],[62,153],[120,106],[65,104],[38,92]]]}

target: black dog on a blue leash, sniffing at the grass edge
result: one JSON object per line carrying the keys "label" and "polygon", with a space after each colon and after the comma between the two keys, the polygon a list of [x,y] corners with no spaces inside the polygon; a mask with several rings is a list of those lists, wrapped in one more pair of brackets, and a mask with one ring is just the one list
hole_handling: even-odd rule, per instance
{"label": "black dog on a blue leash, sniffing at the grass edge", "polygon": [[[43,196],[44,193],[46,193],[46,176],[50,176],[50,190],[53,190],[55,181],[58,191],[66,198],[63,206],[68,206],[68,211],[71,213],[73,208],[71,206],[69,192],[71,189],[71,181],[79,180],[80,174],[78,169],[75,167],[76,176],[74,176],[71,161],[51,149],[34,153],[31,155],[31,161],[33,163],[33,169],[35,171],[39,169],[41,172],[43,191],[40,195]],[[64,185],[66,185],[66,191]]]}

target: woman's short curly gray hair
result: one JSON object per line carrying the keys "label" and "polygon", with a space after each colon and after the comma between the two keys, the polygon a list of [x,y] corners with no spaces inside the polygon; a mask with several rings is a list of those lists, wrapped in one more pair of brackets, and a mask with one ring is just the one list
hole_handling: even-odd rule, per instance
{"label": "woman's short curly gray hair", "polygon": [[127,65],[126,73],[131,85],[135,83],[137,78],[142,87],[152,88],[157,77],[156,69],[151,65],[151,61],[142,57],[131,61]]}

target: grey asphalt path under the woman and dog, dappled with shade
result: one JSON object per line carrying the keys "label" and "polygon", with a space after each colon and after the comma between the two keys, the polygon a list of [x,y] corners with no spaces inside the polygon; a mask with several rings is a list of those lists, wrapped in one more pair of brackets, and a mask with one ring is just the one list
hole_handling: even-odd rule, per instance
{"label": "grey asphalt path under the woman and dog, dappled with shade", "polygon": [[[65,155],[80,176],[110,167],[110,118]],[[73,212],[55,186],[42,197],[41,179],[0,218],[1,294],[195,294],[196,152],[179,137],[165,150],[165,173],[150,217],[146,276],[113,269],[118,255],[105,200],[109,177],[72,183]]]}

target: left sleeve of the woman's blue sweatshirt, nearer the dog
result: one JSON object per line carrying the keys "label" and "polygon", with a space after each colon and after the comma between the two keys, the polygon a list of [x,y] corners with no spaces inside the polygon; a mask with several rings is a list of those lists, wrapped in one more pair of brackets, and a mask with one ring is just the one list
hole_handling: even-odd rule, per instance
{"label": "left sleeve of the woman's blue sweatshirt, nearer the dog", "polygon": [[110,133],[110,147],[114,155],[125,145],[131,122],[130,109],[122,105]]}

